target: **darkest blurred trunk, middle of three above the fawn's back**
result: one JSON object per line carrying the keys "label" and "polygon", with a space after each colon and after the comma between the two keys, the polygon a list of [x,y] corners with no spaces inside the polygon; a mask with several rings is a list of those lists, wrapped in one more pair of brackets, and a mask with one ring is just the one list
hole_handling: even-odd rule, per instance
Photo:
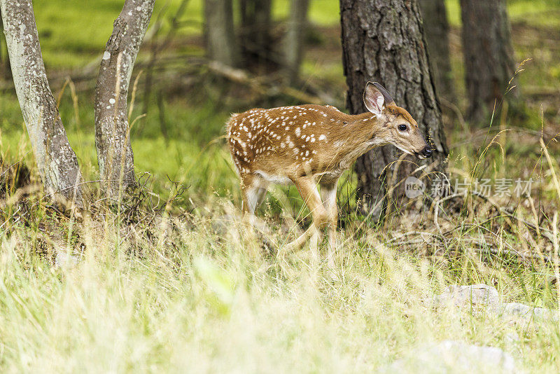
{"label": "darkest blurred trunk, middle of three above the fawn's back", "polygon": [[262,69],[272,62],[272,0],[241,0],[241,54]]}

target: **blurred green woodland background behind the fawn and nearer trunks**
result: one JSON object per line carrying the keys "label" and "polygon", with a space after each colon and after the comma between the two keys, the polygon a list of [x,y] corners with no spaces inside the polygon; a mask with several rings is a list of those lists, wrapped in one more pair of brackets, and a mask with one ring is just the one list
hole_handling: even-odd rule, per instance
{"label": "blurred green woodland background behind the fawn and nearer trunks", "polygon": [[[208,1],[214,4],[210,8],[220,8],[223,3],[228,2]],[[155,191],[167,191],[170,179],[190,186],[187,195],[193,201],[206,200],[212,193],[232,194],[239,201],[235,172],[221,139],[230,113],[255,106],[305,102],[345,109],[339,1],[294,1],[293,6],[287,0],[254,3],[261,4],[261,8],[251,8],[251,1],[230,2],[235,34],[230,35],[225,47],[235,44],[235,55],[228,56],[228,48],[219,46],[213,50],[215,43],[209,40],[218,26],[227,27],[227,22],[224,24],[219,18],[219,11],[205,13],[202,0],[156,2],[134,67],[131,86],[138,76],[139,79],[130,118],[132,122],[146,113],[132,127],[132,148],[137,172],[154,176]],[[450,159],[459,160],[484,143],[489,120],[472,125],[463,119],[468,98],[461,53],[461,9],[458,0],[445,1],[445,6],[450,26],[452,93],[442,95],[440,90],[439,94]],[[89,103],[104,43],[111,34],[111,20],[118,16],[122,2],[36,1],[34,8],[47,74],[59,99],[66,132],[83,173],[95,179],[97,160]],[[225,12],[228,11],[226,7]],[[540,132],[541,125],[549,134],[560,130],[560,2],[510,0],[507,11],[512,25],[514,64],[517,67],[521,61],[530,59],[518,74],[516,83],[521,87],[522,99],[510,106],[507,125],[525,130],[514,130],[515,141],[507,144],[506,151],[514,153],[514,158],[496,162],[505,162],[500,167],[507,168],[507,163],[513,161],[518,168],[521,160],[531,167],[538,155],[528,150],[538,144],[537,138],[523,134]],[[290,36],[294,29],[290,25],[297,25],[294,22],[304,23],[300,47]],[[297,68],[293,66],[299,64],[300,57],[294,48],[302,50]],[[2,158],[6,162],[23,160],[33,167],[4,43],[0,59]],[[434,60],[431,56],[430,59]],[[286,67],[287,64],[292,67]],[[295,73],[298,69],[299,74]],[[499,131],[499,126],[494,127]],[[461,167],[459,164],[461,161],[456,166]],[[347,193],[350,190],[351,187]]]}

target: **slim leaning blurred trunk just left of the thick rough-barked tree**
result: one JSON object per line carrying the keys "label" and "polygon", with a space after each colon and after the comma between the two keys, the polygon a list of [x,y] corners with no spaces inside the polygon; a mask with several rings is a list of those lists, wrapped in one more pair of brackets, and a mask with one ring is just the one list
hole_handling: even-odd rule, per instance
{"label": "slim leaning blurred trunk just left of the thick rough-barked tree", "polygon": [[283,41],[283,74],[290,85],[297,82],[300,74],[308,8],[309,0],[292,0],[290,18]]}

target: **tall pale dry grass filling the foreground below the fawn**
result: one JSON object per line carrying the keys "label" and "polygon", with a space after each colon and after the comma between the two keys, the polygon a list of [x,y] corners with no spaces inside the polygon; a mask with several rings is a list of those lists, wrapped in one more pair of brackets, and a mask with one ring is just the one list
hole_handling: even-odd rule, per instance
{"label": "tall pale dry grass filling the foreground below the fawn", "polygon": [[306,250],[277,261],[230,202],[206,208],[133,226],[109,215],[11,223],[0,251],[1,370],[363,373],[428,342],[462,340],[500,347],[529,373],[557,372],[557,321],[425,303],[447,284],[476,282],[504,301],[554,306],[546,264],[488,261],[468,250],[472,235],[443,256],[374,231],[344,240],[356,234],[348,229],[333,280]]}

